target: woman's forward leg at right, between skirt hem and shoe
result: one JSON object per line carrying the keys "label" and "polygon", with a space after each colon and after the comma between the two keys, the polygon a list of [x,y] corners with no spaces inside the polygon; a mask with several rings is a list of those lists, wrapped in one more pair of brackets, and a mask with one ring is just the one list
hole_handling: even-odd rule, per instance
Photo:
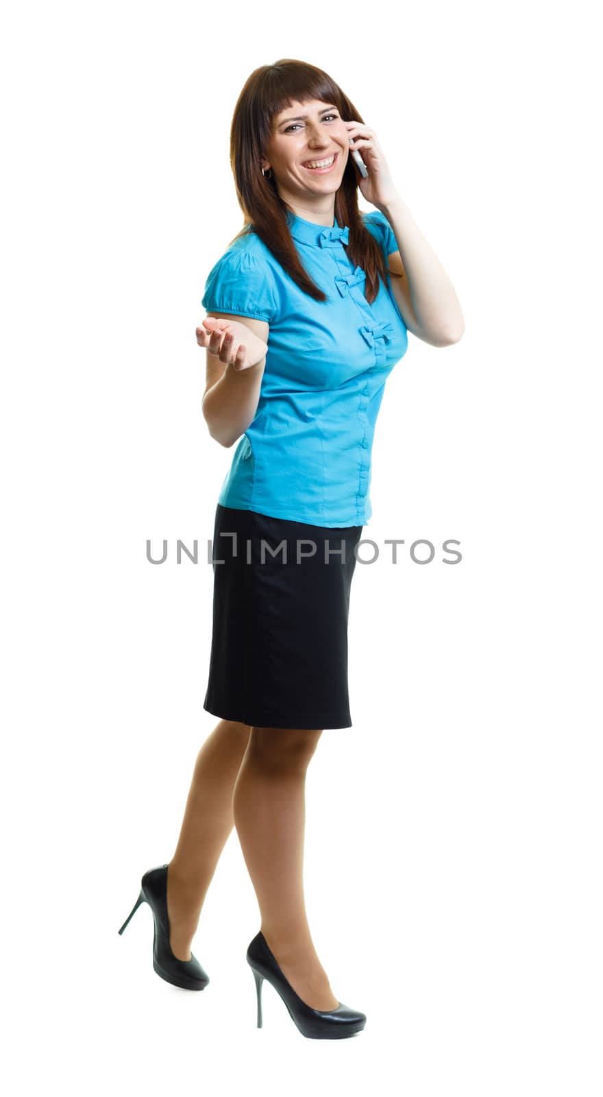
{"label": "woman's forward leg at right, between skirt hem and shoe", "polygon": [[311,939],[303,883],[306,770],[321,734],[252,727],[232,806],[269,948],[306,1005],[335,1009]]}

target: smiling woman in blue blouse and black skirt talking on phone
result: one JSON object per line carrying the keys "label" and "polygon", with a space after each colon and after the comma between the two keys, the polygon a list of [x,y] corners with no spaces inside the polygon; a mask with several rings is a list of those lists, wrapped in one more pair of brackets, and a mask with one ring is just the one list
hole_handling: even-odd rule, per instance
{"label": "smiling woman in blue blouse and black skirt talking on phone", "polygon": [[235,825],[261,911],[247,952],[258,1026],[268,979],[304,1036],[339,1038],[366,1016],[333,994],[307,921],[306,771],[326,727],[352,726],[350,586],[387,375],[407,329],[444,347],[463,316],[375,131],[322,70],[283,59],[252,72],[230,162],[246,226],[208,275],[196,329],[209,433],[240,440],[213,542],[204,708],[221,719],[200,750],[172,860],[145,873],[120,932],[149,903],[155,970],[202,989],[190,946]]}

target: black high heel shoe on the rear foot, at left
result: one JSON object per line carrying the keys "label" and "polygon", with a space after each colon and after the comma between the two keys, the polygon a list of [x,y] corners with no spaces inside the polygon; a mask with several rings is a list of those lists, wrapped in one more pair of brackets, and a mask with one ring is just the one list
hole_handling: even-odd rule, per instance
{"label": "black high heel shoe on the rear foot, at left", "polygon": [[170,948],[170,920],[168,918],[168,866],[149,869],[140,881],[140,894],[118,930],[123,934],[133,914],[141,903],[148,903],[155,923],[152,936],[152,966],[158,975],[173,986],[185,991],[203,991],[209,982],[198,960],[191,952],[190,960],[179,960]]}

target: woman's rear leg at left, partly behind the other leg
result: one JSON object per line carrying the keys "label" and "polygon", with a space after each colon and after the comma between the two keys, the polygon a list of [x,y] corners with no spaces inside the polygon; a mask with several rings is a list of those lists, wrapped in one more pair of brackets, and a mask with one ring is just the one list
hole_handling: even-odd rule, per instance
{"label": "woman's rear leg at left, partly behind the other leg", "polygon": [[191,959],[191,941],[219,856],[234,826],[232,787],[250,726],[220,720],[198,751],[175,852],[168,868],[170,947]]}

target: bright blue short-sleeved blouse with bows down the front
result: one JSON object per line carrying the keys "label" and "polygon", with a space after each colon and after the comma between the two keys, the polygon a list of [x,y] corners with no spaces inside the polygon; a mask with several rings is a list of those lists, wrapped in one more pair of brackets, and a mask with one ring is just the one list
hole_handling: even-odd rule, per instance
{"label": "bright blue short-sleeved blouse with bows down the front", "polygon": [[[387,257],[398,250],[380,211],[362,213]],[[372,305],[366,274],[352,269],[349,229],[287,211],[304,267],[328,295],[315,301],[254,233],[211,270],[206,312],[270,326],[258,410],[239,440],[218,502],[312,525],[364,525],[372,514],[371,454],[388,374],[408,347],[407,327],[379,279]]]}

